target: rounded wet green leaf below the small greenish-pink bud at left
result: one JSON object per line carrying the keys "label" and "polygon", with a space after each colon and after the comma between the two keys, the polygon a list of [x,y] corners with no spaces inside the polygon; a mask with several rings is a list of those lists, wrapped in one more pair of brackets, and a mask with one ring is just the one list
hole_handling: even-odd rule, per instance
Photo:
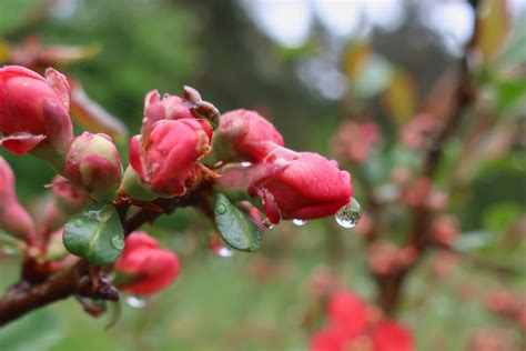
{"label": "rounded wet green leaf below the small greenish-pink bud at left", "polygon": [[111,204],[95,202],[64,225],[64,245],[95,265],[114,262],[124,248],[124,231]]}

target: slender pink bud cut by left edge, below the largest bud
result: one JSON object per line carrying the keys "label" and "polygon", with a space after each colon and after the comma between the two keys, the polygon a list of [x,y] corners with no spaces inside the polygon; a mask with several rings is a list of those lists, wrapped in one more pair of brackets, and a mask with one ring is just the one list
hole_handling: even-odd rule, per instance
{"label": "slender pink bud cut by left edge, below the largest bud", "polygon": [[0,157],[0,228],[18,238],[32,241],[34,223],[14,193],[14,174]]}

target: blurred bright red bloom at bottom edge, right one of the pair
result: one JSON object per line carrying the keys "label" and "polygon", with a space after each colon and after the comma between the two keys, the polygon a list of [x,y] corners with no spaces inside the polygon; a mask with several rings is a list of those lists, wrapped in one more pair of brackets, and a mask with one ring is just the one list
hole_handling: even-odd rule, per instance
{"label": "blurred bright red bloom at bottom edge, right one of the pair", "polygon": [[413,335],[395,321],[380,322],[372,332],[374,351],[414,350]]}

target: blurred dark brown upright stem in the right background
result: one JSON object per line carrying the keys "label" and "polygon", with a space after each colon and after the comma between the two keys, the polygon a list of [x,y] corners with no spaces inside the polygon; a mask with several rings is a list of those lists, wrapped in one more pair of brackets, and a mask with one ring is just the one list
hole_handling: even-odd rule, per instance
{"label": "blurred dark brown upright stem in the right background", "polygon": [[[475,13],[478,9],[478,0],[471,0]],[[474,100],[474,91],[472,87],[472,79],[469,74],[469,56],[475,44],[475,36],[477,32],[477,16],[475,14],[473,36],[469,42],[466,44],[465,54],[459,63],[458,83],[455,91],[455,106],[452,113],[442,127],[442,130],[432,140],[432,144],[425,156],[422,177],[433,179],[441,164],[443,152],[442,149],[449,137],[455,132],[458,124],[461,123],[462,117],[466,109],[471,106]],[[409,244],[413,245],[418,257],[422,257],[427,245],[427,229],[431,219],[429,209],[423,203],[414,210],[413,213],[413,225],[409,233]],[[404,284],[407,273],[416,265],[418,260],[414,264],[407,267],[402,271],[397,271],[391,275],[376,277],[376,281],[380,288],[378,303],[386,313],[393,313],[397,307],[402,287]]]}

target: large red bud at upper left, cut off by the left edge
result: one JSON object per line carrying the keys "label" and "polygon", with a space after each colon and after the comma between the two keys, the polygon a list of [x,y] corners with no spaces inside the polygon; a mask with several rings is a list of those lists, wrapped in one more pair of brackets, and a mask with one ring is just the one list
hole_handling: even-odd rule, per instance
{"label": "large red bud at upper left, cut off by the left edge", "polygon": [[33,150],[47,160],[63,157],[73,139],[69,84],[48,69],[45,78],[20,66],[0,68],[0,132],[14,153]]}

